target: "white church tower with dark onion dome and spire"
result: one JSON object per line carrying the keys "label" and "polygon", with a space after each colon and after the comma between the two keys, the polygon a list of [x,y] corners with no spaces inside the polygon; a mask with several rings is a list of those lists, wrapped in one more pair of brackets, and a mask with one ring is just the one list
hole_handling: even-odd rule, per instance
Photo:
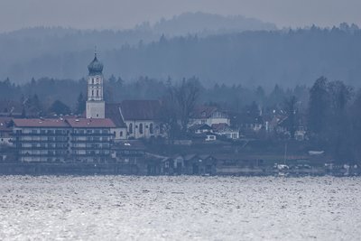
{"label": "white church tower with dark onion dome and spire", "polygon": [[97,60],[95,53],[94,60],[88,65],[88,100],[87,118],[105,118],[106,103],[103,96],[103,64]]}

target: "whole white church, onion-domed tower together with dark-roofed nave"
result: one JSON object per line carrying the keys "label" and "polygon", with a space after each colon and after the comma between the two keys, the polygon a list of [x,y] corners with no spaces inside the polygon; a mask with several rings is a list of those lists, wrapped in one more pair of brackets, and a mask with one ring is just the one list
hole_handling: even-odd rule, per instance
{"label": "whole white church, onion-domed tower together with dark-roofed nave", "polygon": [[104,65],[94,60],[88,65],[88,119],[110,118],[116,125],[112,128],[114,141],[124,139],[148,139],[164,136],[160,122],[159,100],[124,100],[121,103],[106,103],[104,100]]}

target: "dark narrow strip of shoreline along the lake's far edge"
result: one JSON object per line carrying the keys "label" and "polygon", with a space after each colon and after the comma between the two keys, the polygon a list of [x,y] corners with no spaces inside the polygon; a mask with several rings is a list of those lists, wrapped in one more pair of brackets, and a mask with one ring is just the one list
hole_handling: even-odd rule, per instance
{"label": "dark narrow strip of shoreline along the lake's far edge", "polygon": [[219,166],[211,174],[186,174],[167,173],[165,171],[150,172],[149,167],[124,163],[0,163],[0,175],[135,175],[135,176],[360,176],[361,171],[335,168],[332,170],[326,167],[310,167],[310,169],[291,169],[289,171],[279,171],[272,166],[258,167],[224,167]]}

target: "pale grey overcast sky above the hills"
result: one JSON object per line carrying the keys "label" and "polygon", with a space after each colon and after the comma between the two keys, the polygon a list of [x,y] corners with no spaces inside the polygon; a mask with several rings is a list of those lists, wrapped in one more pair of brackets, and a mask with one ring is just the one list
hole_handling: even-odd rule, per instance
{"label": "pale grey overcast sky above the hills", "polygon": [[244,15],[282,27],[361,26],[361,0],[0,0],[0,32],[34,27],[128,29],[185,12]]}

